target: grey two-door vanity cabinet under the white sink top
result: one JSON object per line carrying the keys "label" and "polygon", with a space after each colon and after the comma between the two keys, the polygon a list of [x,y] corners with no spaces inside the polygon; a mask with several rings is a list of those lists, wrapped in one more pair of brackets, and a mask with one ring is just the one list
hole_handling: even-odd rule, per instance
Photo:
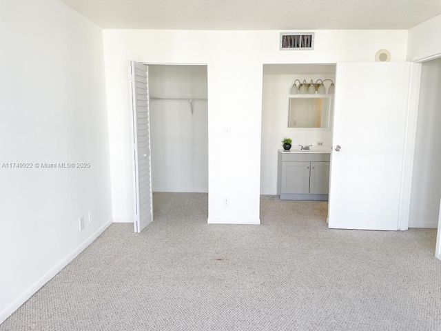
{"label": "grey two-door vanity cabinet under the white sink top", "polygon": [[327,201],[329,152],[278,152],[277,194],[281,200]]}

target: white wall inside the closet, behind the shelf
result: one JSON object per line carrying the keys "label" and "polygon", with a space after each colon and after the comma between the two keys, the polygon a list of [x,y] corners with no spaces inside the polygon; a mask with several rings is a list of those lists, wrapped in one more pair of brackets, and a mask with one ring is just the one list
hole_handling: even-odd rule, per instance
{"label": "white wall inside the closet, behind the shelf", "polygon": [[149,66],[154,192],[208,192],[207,66]]}

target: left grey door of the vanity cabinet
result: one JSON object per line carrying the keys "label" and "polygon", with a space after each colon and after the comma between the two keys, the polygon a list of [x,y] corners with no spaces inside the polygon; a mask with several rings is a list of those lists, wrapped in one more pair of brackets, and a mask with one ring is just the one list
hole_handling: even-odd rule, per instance
{"label": "left grey door of the vanity cabinet", "polygon": [[309,193],[310,162],[282,163],[282,193]]}

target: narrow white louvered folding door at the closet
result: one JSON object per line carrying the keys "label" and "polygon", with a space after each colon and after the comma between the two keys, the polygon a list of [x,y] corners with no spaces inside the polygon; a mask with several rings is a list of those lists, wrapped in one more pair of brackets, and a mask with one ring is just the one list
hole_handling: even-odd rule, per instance
{"label": "narrow white louvered folding door at the closet", "polygon": [[131,62],[135,232],[153,221],[148,67]]}

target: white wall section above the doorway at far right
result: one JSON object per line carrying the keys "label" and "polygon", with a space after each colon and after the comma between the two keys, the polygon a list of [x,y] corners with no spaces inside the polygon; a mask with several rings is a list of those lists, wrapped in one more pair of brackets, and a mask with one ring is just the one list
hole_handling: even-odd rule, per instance
{"label": "white wall section above the doorway at far right", "polygon": [[441,15],[433,17],[409,30],[407,61],[433,59],[441,54]]}

